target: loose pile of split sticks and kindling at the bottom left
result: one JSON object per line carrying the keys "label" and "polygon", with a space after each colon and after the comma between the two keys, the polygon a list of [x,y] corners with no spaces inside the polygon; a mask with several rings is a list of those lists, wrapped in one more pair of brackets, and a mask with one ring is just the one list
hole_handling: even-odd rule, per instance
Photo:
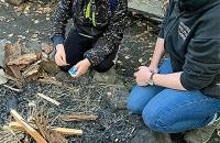
{"label": "loose pile of split sticks and kindling at the bottom left", "polygon": [[[30,114],[28,116],[28,120],[12,109],[12,121],[4,127],[11,131],[19,131],[25,134],[25,138],[19,142],[29,143],[35,140],[37,143],[67,143],[65,136],[82,135],[82,130],[52,127],[50,123],[53,122],[54,119],[59,119],[65,122],[94,121],[98,119],[98,116],[85,113],[63,114],[53,118],[53,120],[48,119],[50,116],[47,114],[45,102],[51,102],[57,107],[61,106],[61,103],[43,94],[36,94],[36,100],[29,103]],[[41,103],[42,101],[43,103]]]}

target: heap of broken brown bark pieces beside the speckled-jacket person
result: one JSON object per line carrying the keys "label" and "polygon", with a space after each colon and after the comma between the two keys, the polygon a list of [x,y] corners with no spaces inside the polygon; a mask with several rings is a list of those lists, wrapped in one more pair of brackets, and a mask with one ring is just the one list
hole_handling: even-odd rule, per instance
{"label": "heap of broken brown bark pieces beside the speckled-jacket person", "polygon": [[43,43],[41,51],[38,53],[24,53],[23,45],[20,42],[7,44],[4,46],[6,77],[15,80],[18,88],[22,88],[22,82],[26,80],[45,82],[52,80],[53,84],[53,76],[48,73],[59,70],[56,64],[48,58],[53,46]]}

